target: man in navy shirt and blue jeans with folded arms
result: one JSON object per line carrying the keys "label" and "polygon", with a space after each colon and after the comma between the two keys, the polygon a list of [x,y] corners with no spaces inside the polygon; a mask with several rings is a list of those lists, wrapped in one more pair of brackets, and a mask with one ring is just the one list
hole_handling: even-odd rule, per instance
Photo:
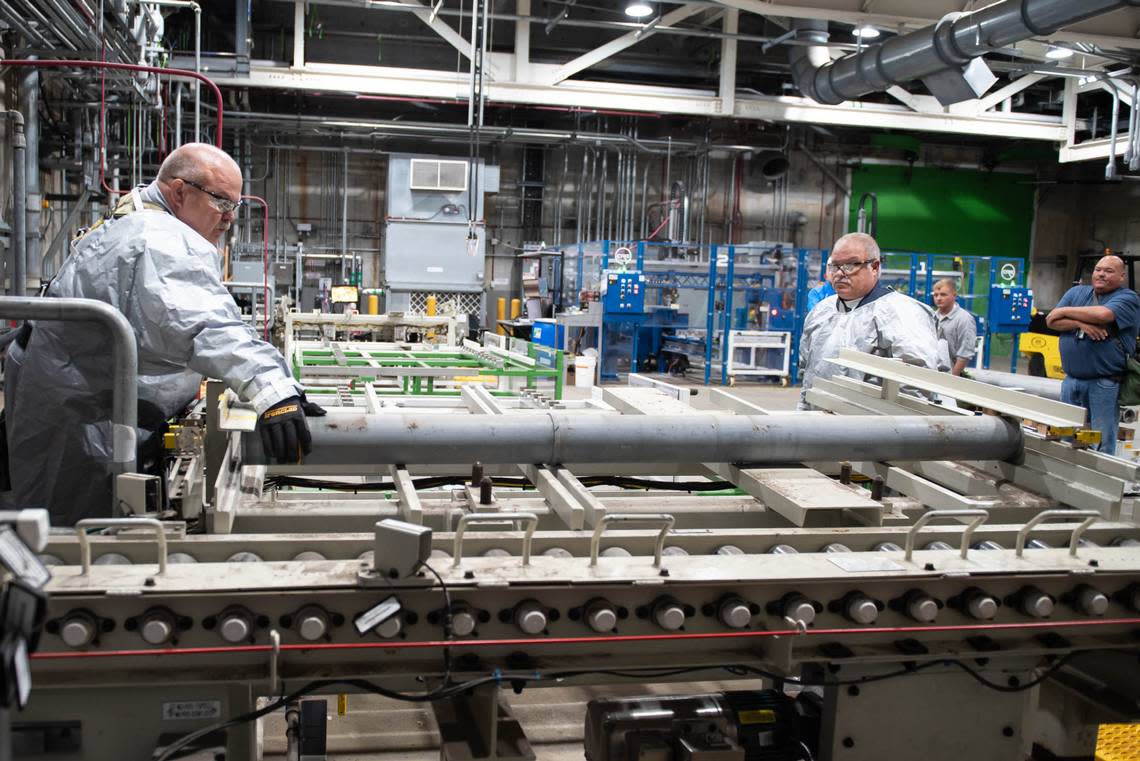
{"label": "man in navy shirt and blue jeans with folded arms", "polygon": [[1140,324],[1140,297],[1123,283],[1124,261],[1104,256],[1092,285],[1069,288],[1045,318],[1061,333],[1061,401],[1089,410],[1089,425],[1100,431],[1097,449],[1107,455],[1116,451],[1116,399]]}

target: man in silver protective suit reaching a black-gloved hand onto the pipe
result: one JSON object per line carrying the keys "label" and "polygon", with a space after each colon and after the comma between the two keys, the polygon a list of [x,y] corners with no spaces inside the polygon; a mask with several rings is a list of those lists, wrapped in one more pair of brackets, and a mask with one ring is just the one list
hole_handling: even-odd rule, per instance
{"label": "man in silver protective suit reaching a black-gloved hand onto the pipe", "polygon": [[[324,415],[221,284],[218,242],[241,196],[233,158],[184,145],[154,182],[72,244],[48,288],[48,297],[104,301],[135,328],[140,469],[149,461],[157,474],[165,420],[195,399],[204,376],[253,404],[267,456],[278,461],[309,452],[306,412]],[[99,326],[59,321],[36,321],[9,346],[8,506],[46,507],[52,525],[112,515],[111,346]]]}

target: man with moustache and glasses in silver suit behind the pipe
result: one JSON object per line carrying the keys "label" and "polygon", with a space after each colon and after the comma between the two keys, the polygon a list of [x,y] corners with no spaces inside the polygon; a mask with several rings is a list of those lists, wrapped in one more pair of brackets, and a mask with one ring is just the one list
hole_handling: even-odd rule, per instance
{"label": "man with moustache and glasses in silver suit behind the pipe", "polygon": [[821,301],[804,322],[799,339],[799,377],[804,387],[798,409],[811,409],[807,390],[816,378],[849,375],[863,379],[861,373],[826,361],[838,357],[840,349],[895,357],[938,369],[934,311],[881,285],[880,260],[879,245],[863,232],[845,235],[832,246],[828,279],[836,294]]}

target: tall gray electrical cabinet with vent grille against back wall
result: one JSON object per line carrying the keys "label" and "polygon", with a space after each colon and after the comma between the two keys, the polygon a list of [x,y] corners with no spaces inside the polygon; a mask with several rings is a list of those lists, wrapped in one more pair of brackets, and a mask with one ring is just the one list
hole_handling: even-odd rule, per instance
{"label": "tall gray electrical cabinet with vent grille against back wall", "polygon": [[[388,165],[384,283],[389,311],[422,311],[434,295],[441,312],[481,314],[487,228],[483,194],[498,193],[498,166],[454,156],[393,154]],[[470,210],[475,238],[469,240]]]}

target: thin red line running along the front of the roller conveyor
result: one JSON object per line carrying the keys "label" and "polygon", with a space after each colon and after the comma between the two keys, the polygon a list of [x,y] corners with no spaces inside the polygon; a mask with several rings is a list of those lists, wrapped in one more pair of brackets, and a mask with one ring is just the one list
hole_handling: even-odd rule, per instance
{"label": "thin red line running along the front of the roller conveyor", "polygon": [[[701,639],[750,639],[754,637],[795,637],[840,635],[913,635],[936,631],[1010,631],[1020,629],[1064,629],[1085,627],[1112,627],[1140,624],[1135,619],[1093,619],[1091,621],[1032,621],[1027,623],[977,623],[967,625],[927,625],[927,627],[879,627],[846,629],[776,629],[758,631],[714,631],[705,633],[673,635],[619,635],[613,637],[544,637],[528,639],[522,637],[511,639],[451,639],[426,640],[420,643],[326,643],[324,645],[282,645],[284,652],[294,650],[356,650],[356,649],[422,649],[437,647],[527,647],[531,645],[592,645],[598,643],[643,643],[661,640],[701,640]],[[218,655],[222,653],[269,653],[272,645],[231,645],[219,647],[165,647],[145,650],[76,650],[68,653],[33,653],[32,657],[41,661],[66,658],[97,657],[133,657],[140,655]]]}

